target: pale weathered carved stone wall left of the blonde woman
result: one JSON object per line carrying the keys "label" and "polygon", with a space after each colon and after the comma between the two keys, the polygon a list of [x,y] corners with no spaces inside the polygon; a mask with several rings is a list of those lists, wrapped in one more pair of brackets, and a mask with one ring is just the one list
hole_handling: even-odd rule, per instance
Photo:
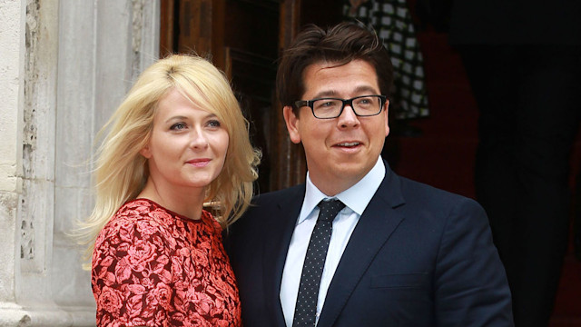
{"label": "pale weathered carved stone wall left of the blonde woman", "polygon": [[68,234],[94,134],[158,45],[159,0],[0,0],[0,327],[94,325]]}

